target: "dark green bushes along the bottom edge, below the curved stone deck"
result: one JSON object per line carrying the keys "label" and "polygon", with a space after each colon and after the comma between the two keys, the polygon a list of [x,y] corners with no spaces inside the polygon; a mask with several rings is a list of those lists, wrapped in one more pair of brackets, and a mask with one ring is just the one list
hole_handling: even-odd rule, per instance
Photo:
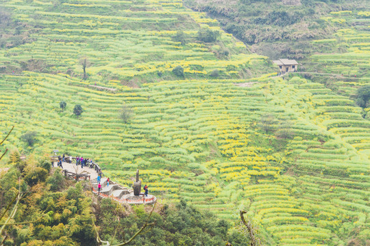
{"label": "dark green bushes along the bottom edge, below the curved stone deck", "polygon": [[[106,235],[114,234],[114,228],[125,231],[125,234],[116,234],[116,242],[122,242],[130,238],[147,219],[147,213],[143,207],[134,207],[135,213],[125,215],[122,208],[116,206],[111,200],[101,201],[97,215],[97,223],[101,233]],[[121,218],[119,221],[117,216]],[[153,213],[150,221],[156,221],[145,233],[136,237],[131,245],[225,245],[227,241],[240,241],[242,234],[234,232],[232,236],[227,233],[230,223],[221,219],[218,220],[211,213],[203,213],[189,206],[184,201],[176,204],[175,207],[164,205],[158,213]],[[238,244],[235,244],[238,245]]]}

